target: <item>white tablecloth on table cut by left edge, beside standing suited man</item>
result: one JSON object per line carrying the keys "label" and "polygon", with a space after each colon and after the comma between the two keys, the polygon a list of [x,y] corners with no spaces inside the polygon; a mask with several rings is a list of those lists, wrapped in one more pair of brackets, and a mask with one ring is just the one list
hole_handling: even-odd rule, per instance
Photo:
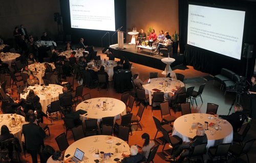
{"label": "white tablecloth on table cut by left edge, beside standing suited man", "polygon": [[[15,114],[1,114],[0,126],[6,125],[9,128],[10,132],[14,135],[14,137],[18,139],[20,147],[22,147],[22,124],[24,124],[25,118],[20,115],[16,115],[16,117],[14,117],[14,115]],[[10,118],[8,118],[8,116],[10,116]],[[15,126],[12,125],[11,118],[15,118]]]}

